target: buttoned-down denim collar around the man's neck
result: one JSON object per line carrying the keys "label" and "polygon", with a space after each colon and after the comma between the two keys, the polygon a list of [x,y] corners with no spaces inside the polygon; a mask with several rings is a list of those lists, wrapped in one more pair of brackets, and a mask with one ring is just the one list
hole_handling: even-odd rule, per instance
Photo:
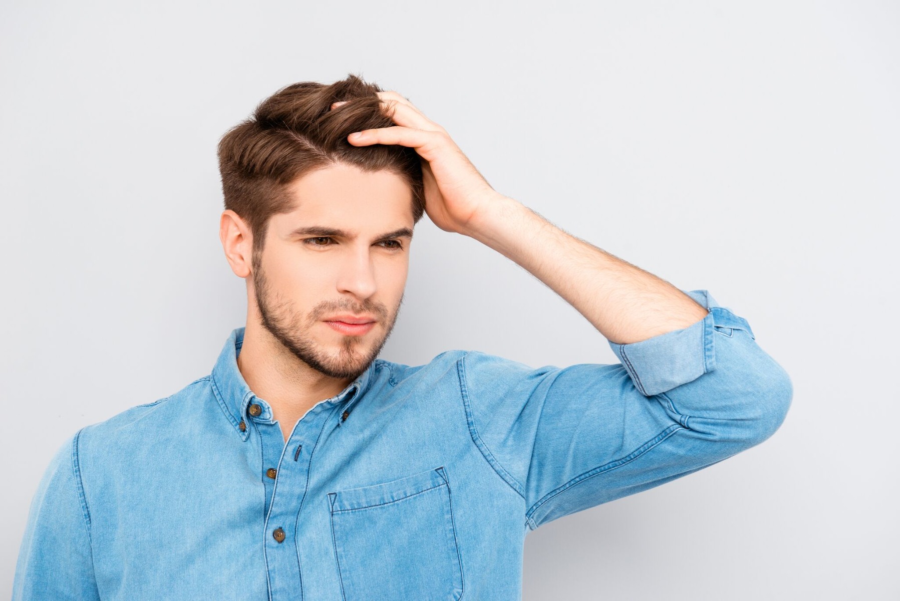
{"label": "buttoned-down denim collar around the man's neck", "polygon": [[[250,435],[250,428],[245,427],[242,431],[240,423],[244,422],[246,426],[251,419],[247,412],[247,408],[251,403],[256,403],[262,408],[262,412],[257,417],[253,417],[253,419],[260,421],[272,419],[272,407],[266,400],[260,399],[253,393],[253,390],[250,390],[247,381],[244,380],[243,374],[238,369],[238,354],[240,354],[240,347],[244,344],[245,329],[246,327],[236,327],[231,331],[231,335],[222,347],[219,359],[212,368],[211,375],[212,390],[216,395],[216,399],[218,399],[221,408],[225,411],[225,415],[229,417],[229,421],[234,426],[235,431],[238,432],[238,435],[243,440],[247,440],[247,437]],[[352,410],[356,401],[363,396],[365,390],[368,390],[377,361],[377,359],[373,361],[365,372],[362,372],[356,380],[347,385],[347,388],[341,390],[330,399],[323,401],[331,405],[342,406],[338,426],[346,418],[344,416]]]}

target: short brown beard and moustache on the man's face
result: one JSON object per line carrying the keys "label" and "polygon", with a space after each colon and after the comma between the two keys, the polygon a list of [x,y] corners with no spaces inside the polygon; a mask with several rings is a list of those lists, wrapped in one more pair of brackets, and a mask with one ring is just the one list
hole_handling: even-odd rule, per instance
{"label": "short brown beard and moustache on the man's face", "polygon": [[[263,270],[261,252],[253,252],[252,265],[253,290],[262,327],[266,328],[266,331],[275,337],[275,340],[280,342],[285,349],[303,363],[331,378],[356,379],[369,368],[375,358],[378,357],[378,354],[381,353],[382,347],[391,336],[394,324],[397,321],[403,303],[403,295],[401,295],[401,299],[393,311],[390,323],[386,324],[383,319],[385,311],[378,307],[358,308],[343,305],[332,307],[329,305],[322,306],[320,309],[313,309],[309,316],[303,316],[301,312],[294,309],[291,301],[285,300],[272,288]],[[368,313],[374,315],[378,319],[379,324],[385,324],[383,337],[371,347],[366,348],[365,336],[341,335],[337,356],[329,354],[325,350],[325,346],[321,345],[314,337],[315,335],[312,334],[312,328],[320,323],[318,316],[334,313],[338,310],[345,310],[354,314]],[[368,333],[371,334],[374,330],[375,328]]]}

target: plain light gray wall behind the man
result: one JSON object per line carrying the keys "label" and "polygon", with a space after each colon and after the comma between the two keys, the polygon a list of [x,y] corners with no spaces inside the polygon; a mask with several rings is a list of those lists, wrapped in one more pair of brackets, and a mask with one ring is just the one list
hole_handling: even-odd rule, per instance
{"label": "plain light gray wall behind the man", "polygon": [[[525,599],[900,597],[896,2],[136,4],[0,9],[0,589],[62,441],[210,372],[243,325],[220,135],[353,72],[498,191],[709,290],[795,385],[766,443],[529,534]],[[491,248],[428,217],[410,248],[383,357],[617,363]]]}

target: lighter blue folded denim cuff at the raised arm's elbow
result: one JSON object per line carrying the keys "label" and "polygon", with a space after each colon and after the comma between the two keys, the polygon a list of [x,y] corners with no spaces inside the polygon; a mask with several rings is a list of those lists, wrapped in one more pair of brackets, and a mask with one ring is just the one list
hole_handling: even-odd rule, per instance
{"label": "lighter blue folded denim cuff at the raised arm's elbow", "polygon": [[737,327],[753,336],[746,319],[734,315],[726,307],[720,307],[706,290],[681,292],[707,308],[707,317],[689,327],[630,345],[619,345],[608,340],[613,353],[635,382],[635,387],[645,397],[697,380],[704,373],[716,369],[715,328],[727,331]]}

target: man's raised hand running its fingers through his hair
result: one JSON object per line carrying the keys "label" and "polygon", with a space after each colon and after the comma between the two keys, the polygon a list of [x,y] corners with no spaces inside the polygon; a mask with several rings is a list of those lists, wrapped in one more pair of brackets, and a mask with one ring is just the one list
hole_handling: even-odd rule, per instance
{"label": "man's raised hand running its fingers through his hair", "polygon": [[422,157],[428,218],[444,231],[469,235],[469,226],[479,211],[486,211],[491,203],[505,197],[488,184],[444,128],[401,94],[387,91],[378,95],[397,125],[355,132],[347,141],[354,146],[398,144],[415,148]]}

